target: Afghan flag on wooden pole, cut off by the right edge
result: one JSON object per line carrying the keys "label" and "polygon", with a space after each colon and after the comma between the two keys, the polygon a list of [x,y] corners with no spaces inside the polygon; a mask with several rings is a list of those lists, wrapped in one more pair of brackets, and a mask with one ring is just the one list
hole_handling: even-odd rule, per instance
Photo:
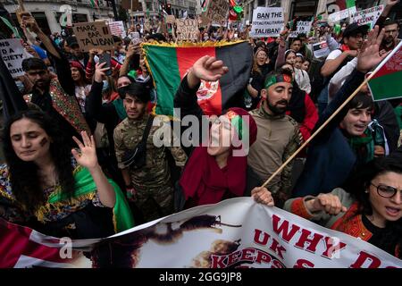
{"label": "Afghan flag on wooden pole, cut off by the right edge", "polygon": [[368,86],[374,101],[402,97],[402,42],[373,73]]}

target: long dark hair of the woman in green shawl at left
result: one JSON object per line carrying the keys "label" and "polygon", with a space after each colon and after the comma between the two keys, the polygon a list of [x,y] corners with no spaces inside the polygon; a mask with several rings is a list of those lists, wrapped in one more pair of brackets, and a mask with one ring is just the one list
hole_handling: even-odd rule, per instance
{"label": "long dark hair of the woman in green shawl at left", "polygon": [[64,193],[72,195],[74,191],[74,177],[71,165],[71,149],[65,143],[67,141],[64,139],[63,133],[59,130],[58,126],[54,124],[54,121],[47,114],[37,110],[27,110],[13,115],[4,127],[3,149],[5,161],[9,167],[13,195],[24,210],[33,213],[46,200],[43,189],[40,188],[38,165],[33,162],[22,161],[15,154],[10,138],[10,130],[13,122],[17,122],[23,118],[37,123],[52,139],[49,152],[53,158],[55,172],[57,172],[58,180]]}

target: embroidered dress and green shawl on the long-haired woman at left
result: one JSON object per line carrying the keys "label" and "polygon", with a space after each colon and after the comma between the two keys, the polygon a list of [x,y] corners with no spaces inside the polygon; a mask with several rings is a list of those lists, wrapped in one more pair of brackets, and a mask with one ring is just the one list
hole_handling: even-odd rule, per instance
{"label": "embroidered dress and green shawl on the long-haired woman at left", "polygon": [[[88,169],[77,164],[75,159],[71,159],[73,175],[76,181],[75,191],[72,198],[68,198],[63,193],[60,185],[44,189],[46,203],[39,206],[33,216],[39,223],[54,223],[63,220],[71,214],[83,210],[90,204],[93,206],[103,206],[96,191],[96,184]],[[111,180],[116,194],[116,203],[113,207],[114,231],[124,231],[134,226],[134,221],[130,213],[130,207],[123,197],[121,189]],[[8,166],[0,166],[0,216],[12,223],[24,224],[28,222],[32,215],[23,211],[23,207],[18,203],[13,195],[11,188],[10,173]]]}

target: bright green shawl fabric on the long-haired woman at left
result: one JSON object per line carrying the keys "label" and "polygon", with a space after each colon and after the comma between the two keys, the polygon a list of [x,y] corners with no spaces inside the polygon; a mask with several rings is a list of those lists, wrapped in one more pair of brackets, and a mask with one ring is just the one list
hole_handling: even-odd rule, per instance
{"label": "bright green shawl fabric on the long-haired woman at left", "polygon": [[[92,179],[87,168],[79,167],[78,171],[74,171],[75,192],[73,198],[82,198],[96,194],[96,184]],[[119,186],[112,180],[108,180],[116,193],[116,203],[113,207],[113,224],[114,231],[121,232],[134,227],[134,219],[130,211],[130,206],[121,192]],[[48,198],[48,203],[57,204],[68,200],[68,194],[61,190],[55,191]]]}

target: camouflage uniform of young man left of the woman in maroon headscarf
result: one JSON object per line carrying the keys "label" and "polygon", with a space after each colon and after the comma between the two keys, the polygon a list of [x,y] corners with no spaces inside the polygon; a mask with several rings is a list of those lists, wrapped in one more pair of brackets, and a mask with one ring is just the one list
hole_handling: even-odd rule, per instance
{"label": "camouflage uniform of young man left of the woman in maroon headscarf", "polygon": [[[149,115],[141,120],[125,119],[114,130],[114,147],[119,168],[124,153],[137,147],[138,142],[147,126]],[[165,138],[162,134],[170,132],[171,138]],[[154,137],[163,138],[166,145],[156,147]],[[175,160],[177,166],[186,164],[187,156],[181,147],[171,147],[174,140],[170,120],[167,116],[156,116],[153,127],[147,139],[147,159],[145,167],[139,170],[130,168],[131,183],[136,189],[136,205],[143,212],[145,219],[150,221],[157,217],[173,212],[173,188],[170,167],[166,158],[166,147]],[[156,217],[155,215],[158,214]]]}

